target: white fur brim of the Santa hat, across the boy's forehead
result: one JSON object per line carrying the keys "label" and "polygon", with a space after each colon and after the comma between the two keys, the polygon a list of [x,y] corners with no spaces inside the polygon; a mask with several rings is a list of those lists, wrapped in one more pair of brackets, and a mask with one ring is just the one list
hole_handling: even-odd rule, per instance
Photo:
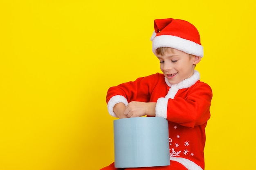
{"label": "white fur brim of the Santa hat, across the boy's forehead", "polygon": [[192,54],[199,57],[204,56],[202,45],[174,35],[159,35],[153,38],[152,51],[155,55],[156,49],[160,47],[171,47],[186,52],[187,54]]}

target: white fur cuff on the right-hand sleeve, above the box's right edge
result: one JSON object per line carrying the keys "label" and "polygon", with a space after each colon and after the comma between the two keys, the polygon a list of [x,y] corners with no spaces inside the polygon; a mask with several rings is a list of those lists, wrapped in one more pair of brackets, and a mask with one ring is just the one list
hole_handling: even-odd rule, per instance
{"label": "white fur cuff on the right-hand sleeve, above the box's right edge", "polygon": [[155,106],[155,117],[167,118],[168,98],[158,98]]}

